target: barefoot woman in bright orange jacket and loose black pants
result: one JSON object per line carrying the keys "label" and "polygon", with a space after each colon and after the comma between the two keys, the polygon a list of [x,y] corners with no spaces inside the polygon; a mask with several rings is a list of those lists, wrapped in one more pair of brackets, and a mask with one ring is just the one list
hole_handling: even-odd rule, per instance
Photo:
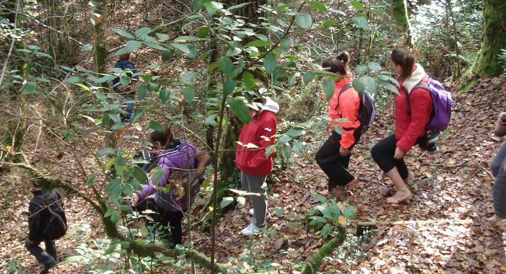
{"label": "barefoot woman in bright orange jacket and loose black pants", "polygon": [[[338,75],[335,81],[334,95],[329,100],[328,116],[331,135],[316,153],[316,163],[328,176],[328,187],[320,191],[328,195],[337,186],[349,187],[358,181],[350,174],[350,150],[360,139],[362,128],[358,120],[360,96],[351,85],[352,76],[348,72],[347,63],[350,55],[343,52],[323,61],[323,69]],[[345,122],[341,122],[346,120]],[[339,127],[342,134],[335,131]]]}

